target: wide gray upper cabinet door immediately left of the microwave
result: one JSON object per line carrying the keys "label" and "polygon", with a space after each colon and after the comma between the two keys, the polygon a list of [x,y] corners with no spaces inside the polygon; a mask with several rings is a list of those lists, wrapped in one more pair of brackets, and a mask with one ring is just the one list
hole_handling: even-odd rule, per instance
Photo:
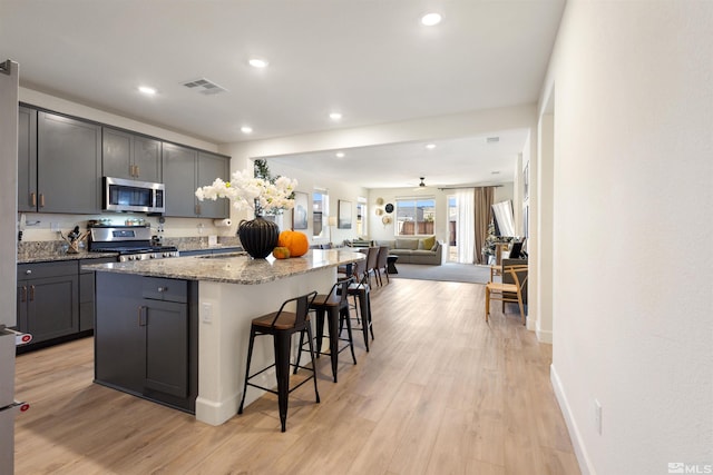
{"label": "wide gray upper cabinet door immediately left of the microwave", "polygon": [[37,113],[37,172],[41,212],[101,211],[101,127]]}

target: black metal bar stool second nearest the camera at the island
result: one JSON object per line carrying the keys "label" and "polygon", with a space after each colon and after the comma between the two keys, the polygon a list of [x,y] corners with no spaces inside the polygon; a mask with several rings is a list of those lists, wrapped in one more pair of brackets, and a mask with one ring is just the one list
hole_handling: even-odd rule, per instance
{"label": "black metal bar stool second nearest the camera at the island", "polygon": [[[349,301],[346,300],[349,285],[354,281],[353,277],[348,279],[343,279],[338,281],[332,286],[329,294],[323,295],[320,294],[314,297],[312,304],[310,305],[310,309],[314,310],[316,315],[316,357],[320,355],[330,355],[330,359],[332,360],[332,376],[334,378],[334,383],[336,383],[336,366],[339,363],[339,354],[346,348],[351,349],[352,360],[354,365],[356,364],[356,356],[354,355],[354,344],[352,340],[352,325],[351,318],[349,316]],[[329,353],[322,352],[322,338],[324,337],[324,315],[326,314],[326,323],[330,331],[330,350]],[[343,316],[346,319],[346,334],[348,338],[341,338],[339,331],[340,316]],[[297,354],[297,365],[300,364],[300,356],[303,348],[303,336],[300,336],[300,353]],[[340,342],[348,342],[348,345],[344,345],[340,348]],[[295,368],[296,372],[296,368]]]}

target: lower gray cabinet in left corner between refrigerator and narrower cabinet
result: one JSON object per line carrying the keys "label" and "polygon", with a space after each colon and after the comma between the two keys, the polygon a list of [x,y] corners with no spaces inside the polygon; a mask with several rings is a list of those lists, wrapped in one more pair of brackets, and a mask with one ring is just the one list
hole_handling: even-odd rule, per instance
{"label": "lower gray cabinet in left corner between refrigerator and narrower cabinet", "polygon": [[18,266],[18,329],[32,344],[79,331],[77,261]]}

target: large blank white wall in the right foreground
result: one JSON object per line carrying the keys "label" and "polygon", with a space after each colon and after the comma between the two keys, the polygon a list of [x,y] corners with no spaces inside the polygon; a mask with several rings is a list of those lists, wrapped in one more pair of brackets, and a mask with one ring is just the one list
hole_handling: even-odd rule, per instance
{"label": "large blank white wall in the right foreground", "polygon": [[567,2],[551,376],[584,473],[713,467],[711,38],[709,1]]}

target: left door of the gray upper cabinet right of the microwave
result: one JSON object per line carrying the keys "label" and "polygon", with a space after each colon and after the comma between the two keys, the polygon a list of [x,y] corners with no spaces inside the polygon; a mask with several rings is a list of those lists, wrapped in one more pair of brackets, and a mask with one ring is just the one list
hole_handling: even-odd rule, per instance
{"label": "left door of the gray upper cabinet right of the microwave", "polygon": [[198,152],[174,144],[163,144],[163,174],[166,185],[166,216],[196,216],[196,161]]}

